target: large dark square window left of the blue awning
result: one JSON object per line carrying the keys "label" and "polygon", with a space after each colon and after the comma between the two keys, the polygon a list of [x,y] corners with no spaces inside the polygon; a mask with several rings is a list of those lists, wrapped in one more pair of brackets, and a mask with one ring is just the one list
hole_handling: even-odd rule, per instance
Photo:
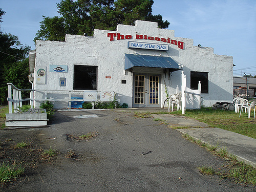
{"label": "large dark square window left of the blue awning", "polygon": [[74,65],[74,90],[97,90],[97,66]]}

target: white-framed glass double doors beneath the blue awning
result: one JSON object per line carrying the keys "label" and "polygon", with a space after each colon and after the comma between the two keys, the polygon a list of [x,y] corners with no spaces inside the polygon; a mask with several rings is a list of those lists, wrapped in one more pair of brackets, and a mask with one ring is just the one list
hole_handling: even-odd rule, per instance
{"label": "white-framed glass double doors beneath the blue awning", "polygon": [[133,107],[160,108],[160,76],[153,74],[134,74]]}

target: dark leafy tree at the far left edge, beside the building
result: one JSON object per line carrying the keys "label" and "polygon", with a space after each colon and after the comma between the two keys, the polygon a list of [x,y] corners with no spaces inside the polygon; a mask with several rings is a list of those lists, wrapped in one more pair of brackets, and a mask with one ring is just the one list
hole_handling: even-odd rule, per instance
{"label": "dark leafy tree at the far left edge, beside the building", "polygon": [[[2,9],[0,9],[0,19],[2,19],[2,15],[4,14],[5,12]],[[2,20],[0,21],[2,22]],[[10,82],[9,80],[11,80],[7,78],[7,74],[13,77],[19,75],[16,76],[17,79],[15,79],[15,82],[28,79],[27,75],[29,75],[29,73],[24,75],[22,70],[25,70],[29,66],[28,61],[24,61],[24,59],[28,58],[29,51],[30,47],[23,46],[18,40],[17,36],[12,35],[11,33],[3,33],[2,31],[0,31],[0,104],[7,103],[6,83]],[[13,71],[13,68],[17,66],[17,62],[22,62],[22,64],[19,63],[19,66],[22,65],[22,67],[19,67],[19,70],[21,71]],[[23,75],[20,76],[20,74]],[[24,86],[30,86],[28,80],[27,83],[21,84],[23,84],[22,88],[25,88]]]}

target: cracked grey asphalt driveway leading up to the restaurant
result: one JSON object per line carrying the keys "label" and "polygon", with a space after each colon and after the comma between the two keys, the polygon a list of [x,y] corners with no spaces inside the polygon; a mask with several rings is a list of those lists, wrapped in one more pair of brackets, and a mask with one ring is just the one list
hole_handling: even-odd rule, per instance
{"label": "cracked grey asphalt driveway leading up to the restaurant", "polygon": [[[226,161],[167,125],[128,111],[56,112],[49,127],[8,132],[34,134],[60,153],[18,191],[255,191],[200,174],[198,167],[217,169]],[[88,141],[68,136],[89,132],[96,136]],[[73,159],[65,157],[70,150]]]}

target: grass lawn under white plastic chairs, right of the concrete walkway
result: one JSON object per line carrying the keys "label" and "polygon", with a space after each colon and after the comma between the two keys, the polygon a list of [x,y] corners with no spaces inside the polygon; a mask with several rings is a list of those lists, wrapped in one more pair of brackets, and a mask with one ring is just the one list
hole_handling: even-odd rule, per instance
{"label": "grass lawn under white plastic chairs, right of the concrete walkway", "polygon": [[[181,111],[171,112],[170,114],[181,115]],[[205,122],[212,127],[256,139],[256,119],[254,119],[253,112],[251,112],[249,119],[247,115],[248,113],[242,113],[239,118],[239,113],[234,113],[234,111],[212,110],[211,108],[185,111],[185,116]]]}

